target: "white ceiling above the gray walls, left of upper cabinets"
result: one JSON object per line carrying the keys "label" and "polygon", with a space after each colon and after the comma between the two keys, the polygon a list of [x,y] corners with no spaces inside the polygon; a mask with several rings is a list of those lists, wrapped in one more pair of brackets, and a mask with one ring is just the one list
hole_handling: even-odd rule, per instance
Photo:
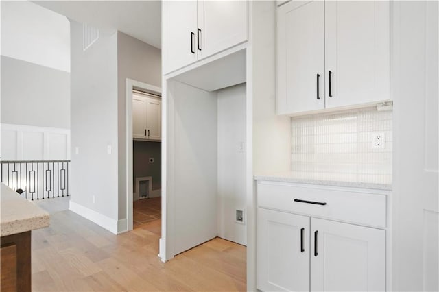
{"label": "white ceiling above the gray walls, left of upper cabinets", "polygon": [[117,29],[161,48],[161,1],[34,1],[98,29]]}

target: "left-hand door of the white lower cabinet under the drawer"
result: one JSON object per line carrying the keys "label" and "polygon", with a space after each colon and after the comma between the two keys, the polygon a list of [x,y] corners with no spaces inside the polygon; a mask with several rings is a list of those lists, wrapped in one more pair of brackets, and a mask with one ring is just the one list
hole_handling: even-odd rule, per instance
{"label": "left-hand door of the white lower cabinet under the drawer", "polygon": [[257,289],[309,291],[309,217],[257,210]]}

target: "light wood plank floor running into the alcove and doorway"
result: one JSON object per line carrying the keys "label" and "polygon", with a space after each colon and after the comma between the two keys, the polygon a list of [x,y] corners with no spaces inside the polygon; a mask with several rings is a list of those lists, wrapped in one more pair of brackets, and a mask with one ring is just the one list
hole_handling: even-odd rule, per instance
{"label": "light wood plank floor running into the alcove and doorway", "polygon": [[32,232],[32,290],[246,290],[246,247],[217,238],[162,263],[161,220],[141,221],[115,235],[69,210],[51,213]]}

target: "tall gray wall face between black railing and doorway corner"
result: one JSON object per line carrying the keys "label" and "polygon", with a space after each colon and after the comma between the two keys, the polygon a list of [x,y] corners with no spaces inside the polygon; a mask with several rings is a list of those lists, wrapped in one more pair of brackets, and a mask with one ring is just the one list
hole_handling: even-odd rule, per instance
{"label": "tall gray wall face between black railing and doorway corner", "polygon": [[83,51],[82,25],[72,21],[71,202],[114,220],[117,139],[117,33],[100,31]]}

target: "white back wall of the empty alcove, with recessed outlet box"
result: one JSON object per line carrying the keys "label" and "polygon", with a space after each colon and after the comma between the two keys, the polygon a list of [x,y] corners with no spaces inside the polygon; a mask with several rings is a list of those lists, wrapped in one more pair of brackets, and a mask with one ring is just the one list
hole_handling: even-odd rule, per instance
{"label": "white back wall of the empty alcove, with recessed outlet box", "polygon": [[235,221],[246,213],[246,84],[217,90],[217,102],[218,236],[246,245],[247,225]]}

